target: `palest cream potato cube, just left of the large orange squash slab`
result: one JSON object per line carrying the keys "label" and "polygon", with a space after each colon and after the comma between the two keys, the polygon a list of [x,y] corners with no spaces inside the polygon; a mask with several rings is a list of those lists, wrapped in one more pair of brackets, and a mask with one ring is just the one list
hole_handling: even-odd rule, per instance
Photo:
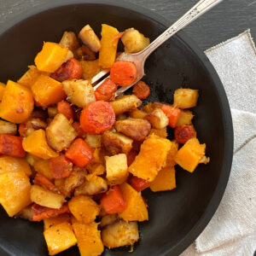
{"label": "palest cream potato cube, just left of the large orange squash slab", "polygon": [[128,165],[126,154],[105,156],[107,178],[111,184],[124,183],[128,177]]}

